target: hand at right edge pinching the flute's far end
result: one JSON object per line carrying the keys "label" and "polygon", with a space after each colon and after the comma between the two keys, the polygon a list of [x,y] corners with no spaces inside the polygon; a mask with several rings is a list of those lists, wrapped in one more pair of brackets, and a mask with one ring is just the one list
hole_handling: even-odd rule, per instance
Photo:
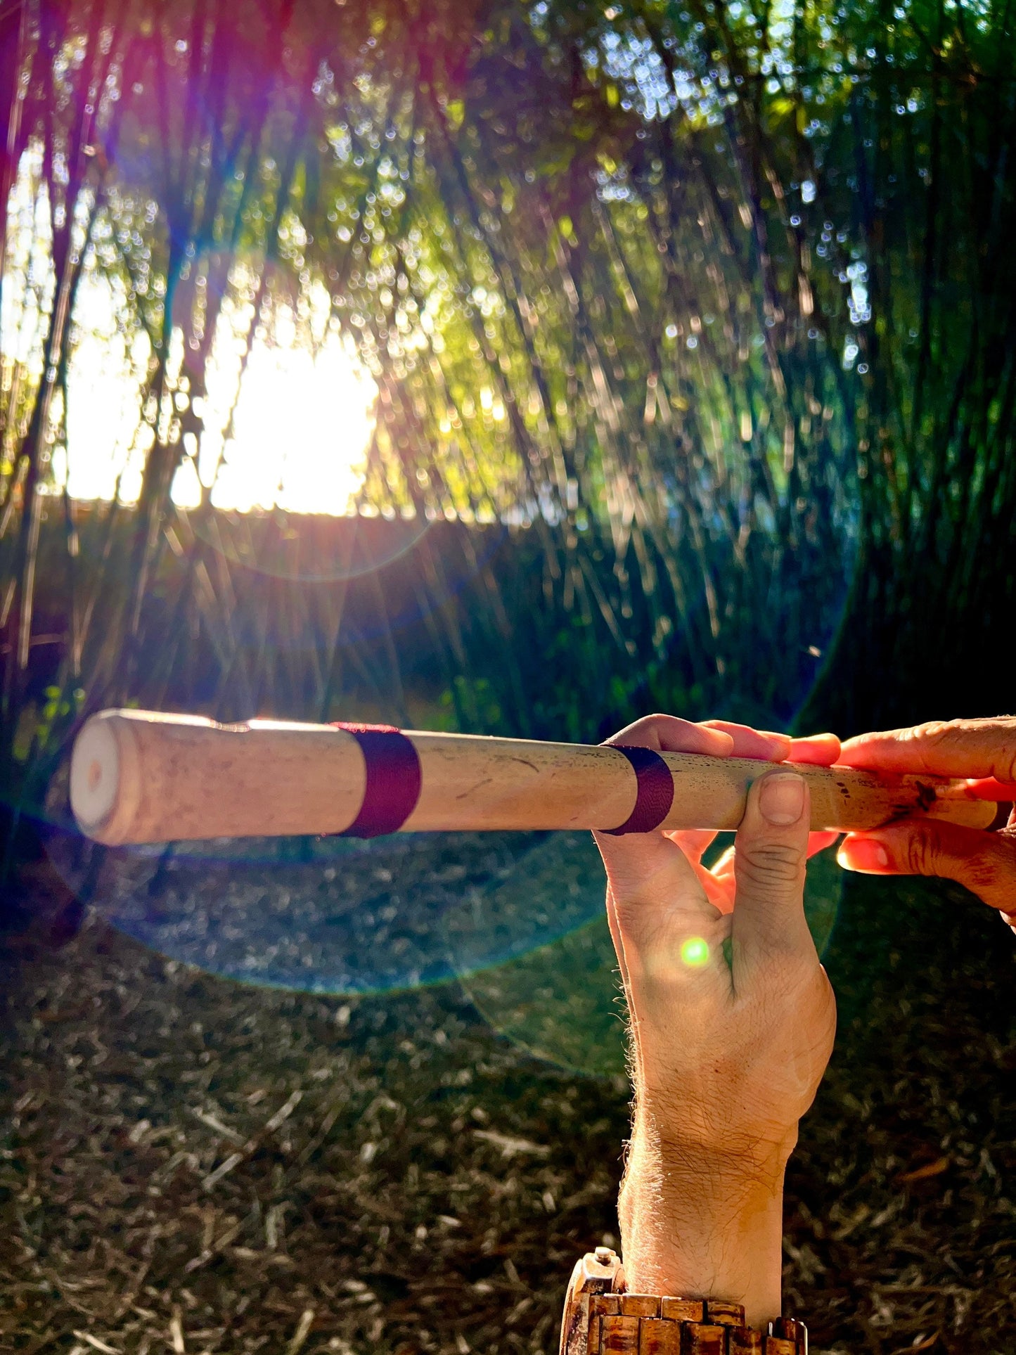
{"label": "hand at right edge pinching the flute's far end", "polygon": [[[872,771],[966,776],[985,799],[1016,801],[1016,720],[952,720],[848,738],[841,763]],[[848,833],[847,870],[872,875],[943,875],[997,908],[1016,931],[1016,812],[998,832],[902,818]]]}

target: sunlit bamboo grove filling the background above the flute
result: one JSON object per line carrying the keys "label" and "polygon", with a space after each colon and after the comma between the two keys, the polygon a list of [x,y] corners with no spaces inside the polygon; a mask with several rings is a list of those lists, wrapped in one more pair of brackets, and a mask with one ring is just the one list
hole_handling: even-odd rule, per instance
{"label": "sunlit bamboo grove filling the background above the flute", "polygon": [[[788,718],[816,678],[849,724],[889,661],[952,699],[1011,614],[1005,0],[1,0],[0,45],[12,783],[100,702],[400,717],[415,664],[474,729]],[[144,339],[134,503],[54,478],[95,272]],[[321,528],[171,488],[224,308],[242,366],[312,293],[377,386],[320,549],[409,554],[263,587],[242,541]],[[358,645],[400,589],[425,663]]]}

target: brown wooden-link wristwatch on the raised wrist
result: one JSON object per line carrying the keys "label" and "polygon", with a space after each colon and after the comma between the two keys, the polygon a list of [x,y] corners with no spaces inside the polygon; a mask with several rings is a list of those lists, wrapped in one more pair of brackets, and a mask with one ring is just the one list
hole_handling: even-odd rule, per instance
{"label": "brown wooden-link wristwatch on the raised wrist", "polygon": [[572,1271],[561,1355],[807,1355],[807,1329],[782,1317],[759,1332],[719,1299],[629,1294],[616,1252],[597,1247]]}

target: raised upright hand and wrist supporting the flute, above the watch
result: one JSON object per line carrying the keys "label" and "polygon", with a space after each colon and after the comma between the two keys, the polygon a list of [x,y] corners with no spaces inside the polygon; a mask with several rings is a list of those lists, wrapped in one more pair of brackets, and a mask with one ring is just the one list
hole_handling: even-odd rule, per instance
{"label": "raised upright hand and wrist supporting the flute, above the watch", "polygon": [[[833,736],[669,715],[608,741],[818,764],[839,753]],[[702,866],[713,833],[595,835],[631,1018],[627,1283],[742,1302],[755,1324],[780,1310],[783,1171],[836,1027],[803,911],[806,855],[836,833],[809,839],[807,825],[803,779],[768,772],[713,871]]]}

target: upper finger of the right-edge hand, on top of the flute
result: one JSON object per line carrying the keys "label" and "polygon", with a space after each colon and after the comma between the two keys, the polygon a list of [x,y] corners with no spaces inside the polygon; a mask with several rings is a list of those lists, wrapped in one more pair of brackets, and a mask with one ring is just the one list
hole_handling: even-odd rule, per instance
{"label": "upper finger of the right-edge hand, on top of the flute", "polygon": [[840,763],[872,771],[1016,780],[1016,718],[931,721],[848,738]]}

